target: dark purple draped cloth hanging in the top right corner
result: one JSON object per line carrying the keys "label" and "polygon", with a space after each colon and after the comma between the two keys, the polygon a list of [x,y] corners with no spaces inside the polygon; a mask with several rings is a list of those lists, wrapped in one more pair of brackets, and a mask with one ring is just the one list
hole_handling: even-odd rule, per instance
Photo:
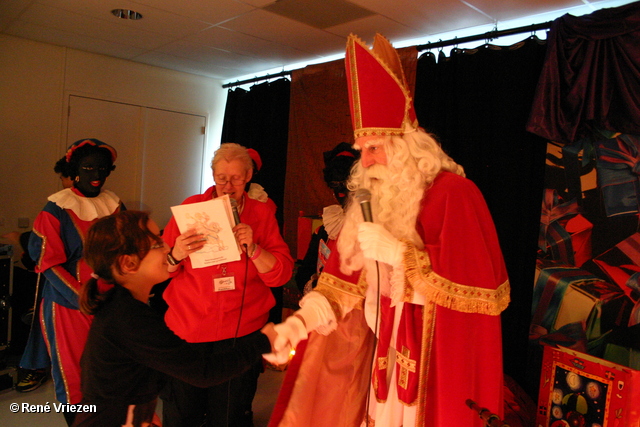
{"label": "dark purple draped cloth hanging in the top right corner", "polygon": [[527,129],[565,144],[593,127],[640,135],[639,93],[640,2],[564,15],[549,31]]}

